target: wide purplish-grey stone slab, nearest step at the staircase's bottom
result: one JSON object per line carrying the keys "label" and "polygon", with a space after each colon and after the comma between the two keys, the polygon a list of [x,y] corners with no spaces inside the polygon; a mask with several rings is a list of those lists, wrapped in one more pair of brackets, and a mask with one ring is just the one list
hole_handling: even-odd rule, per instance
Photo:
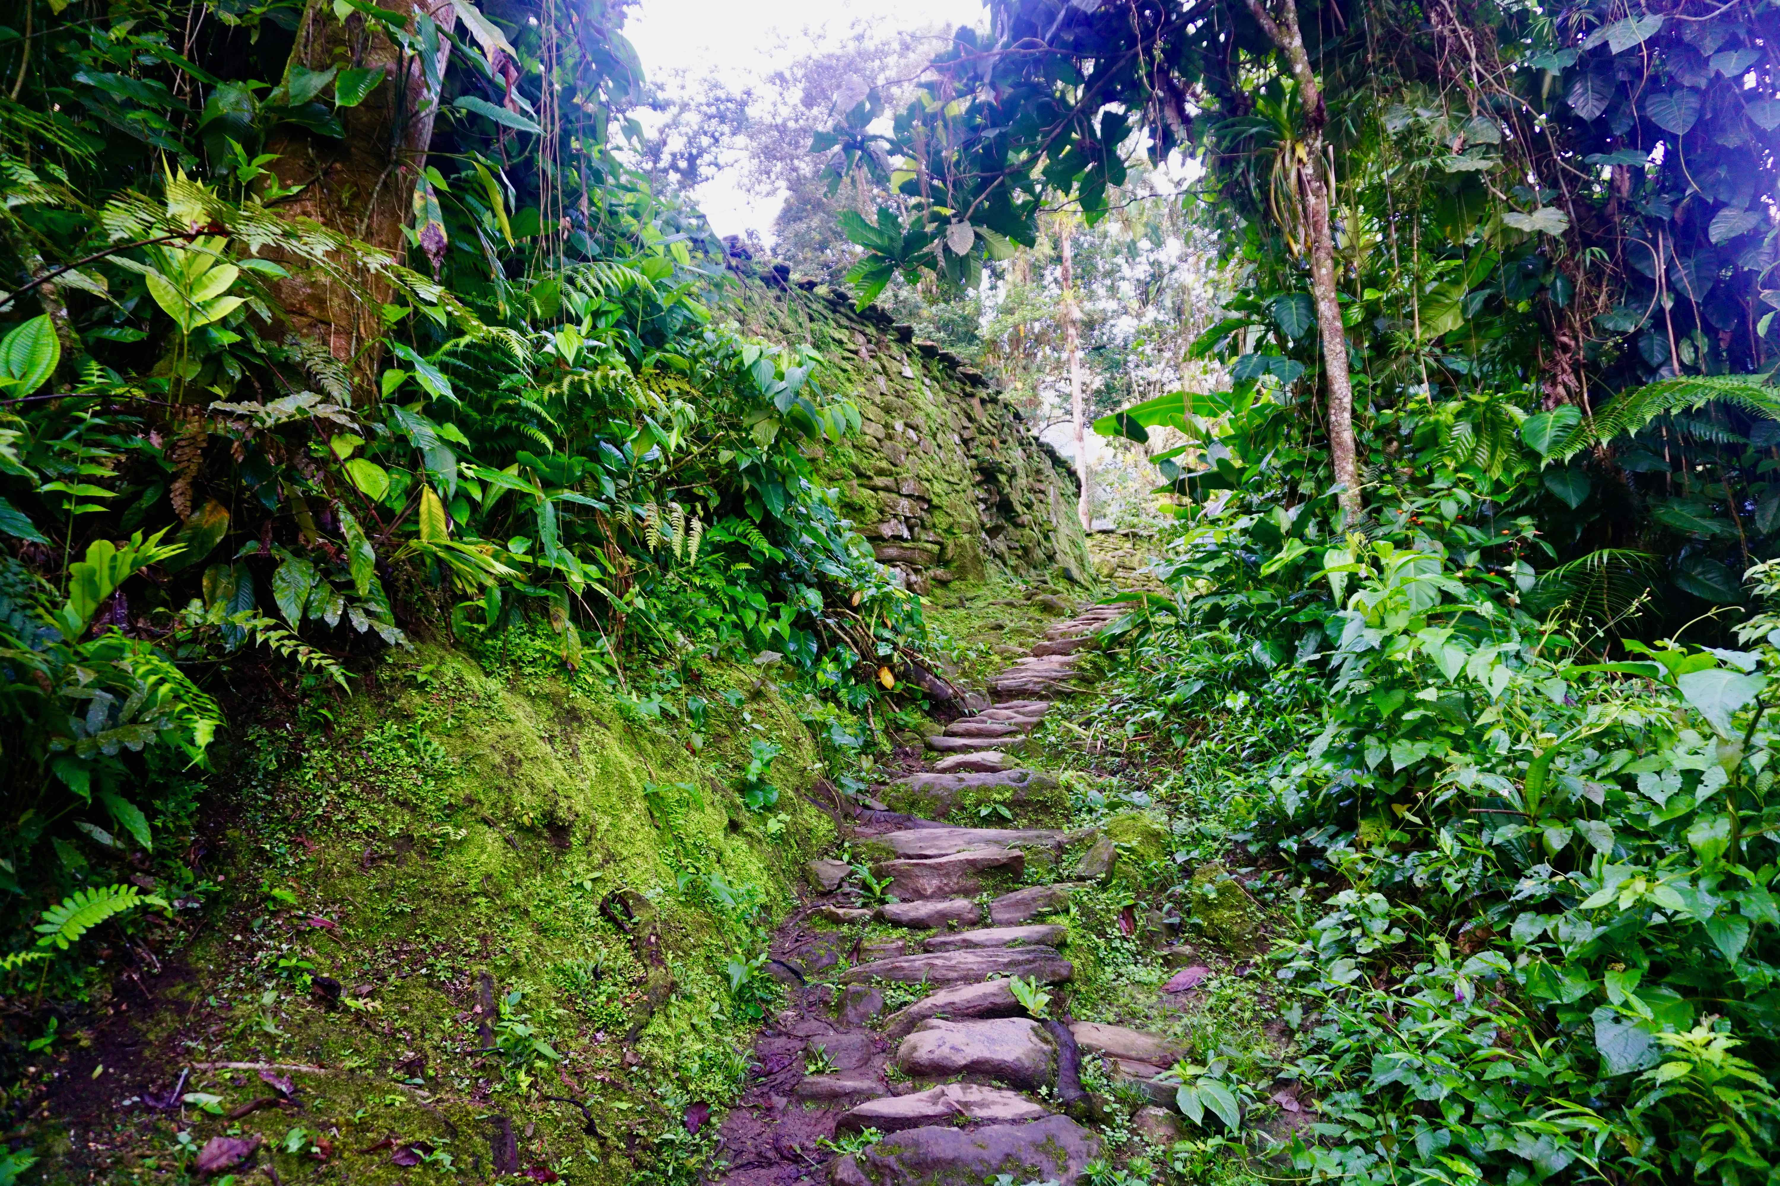
{"label": "wide purplish-grey stone slab, nearest step at the staircase's bottom", "polygon": [[835,1186],[979,1186],[1006,1174],[1015,1182],[1077,1186],[1082,1168],[1100,1156],[1100,1138],[1068,1117],[1027,1124],[990,1124],[963,1131],[951,1126],[906,1129],[862,1154],[838,1158]]}

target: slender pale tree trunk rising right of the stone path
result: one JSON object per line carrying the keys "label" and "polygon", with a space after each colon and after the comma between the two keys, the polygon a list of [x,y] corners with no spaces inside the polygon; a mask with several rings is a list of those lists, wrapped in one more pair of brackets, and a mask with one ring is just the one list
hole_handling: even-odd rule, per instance
{"label": "slender pale tree trunk rising right of the stone path", "polygon": [[1328,108],[1323,89],[1310,69],[1303,34],[1298,30],[1298,0],[1274,0],[1280,20],[1267,12],[1267,0],[1248,0],[1248,11],[1285,57],[1298,82],[1298,98],[1305,108],[1305,155],[1298,169],[1298,183],[1305,196],[1305,231],[1310,240],[1310,297],[1317,308],[1317,329],[1323,338],[1323,375],[1330,391],[1330,455],[1335,462],[1335,480],[1342,484],[1342,519],[1356,523],[1363,514],[1360,501],[1360,452],[1353,437],[1353,382],[1347,373],[1347,333],[1340,324],[1340,301],[1335,290],[1335,233],[1330,226],[1330,192],[1323,180],[1323,126]]}

